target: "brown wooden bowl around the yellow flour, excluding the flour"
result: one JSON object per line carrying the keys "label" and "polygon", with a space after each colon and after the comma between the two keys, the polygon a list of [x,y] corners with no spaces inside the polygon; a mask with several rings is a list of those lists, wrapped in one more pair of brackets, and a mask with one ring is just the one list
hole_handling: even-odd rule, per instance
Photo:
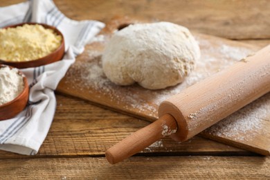
{"label": "brown wooden bowl around the yellow flour, excluding the flour", "polygon": [[[39,24],[39,23],[15,24],[12,26],[6,26],[5,28],[16,28],[17,26],[23,26],[24,24],[34,25],[34,24]],[[23,68],[29,68],[29,67],[42,66],[45,64],[50,64],[50,63],[62,60],[62,57],[64,56],[64,36],[60,32],[60,30],[57,30],[57,28],[55,28],[53,26],[49,26],[47,24],[39,24],[39,25],[44,26],[44,28],[52,29],[55,31],[55,33],[57,33],[57,35],[60,35],[62,37],[62,42],[61,42],[60,46],[52,53],[50,53],[44,57],[41,57],[37,60],[30,60],[30,61],[26,61],[26,62],[10,62],[10,61],[6,61],[6,60],[0,60],[0,64],[7,64],[8,66],[13,66],[13,67],[16,67],[18,69],[23,69]]]}

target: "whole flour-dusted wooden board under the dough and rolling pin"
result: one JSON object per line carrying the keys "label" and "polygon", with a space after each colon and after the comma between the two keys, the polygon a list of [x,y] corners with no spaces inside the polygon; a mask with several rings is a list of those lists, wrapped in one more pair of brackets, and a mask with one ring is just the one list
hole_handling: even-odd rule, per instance
{"label": "whole flour-dusted wooden board under the dough and rolling pin", "polygon": [[[138,84],[120,87],[106,78],[102,72],[100,57],[111,34],[127,24],[134,23],[137,21],[127,18],[109,21],[100,35],[85,47],[82,55],[78,56],[75,64],[60,82],[57,91],[125,114],[154,121],[158,118],[157,109],[163,100],[243,60],[244,57],[259,49],[241,42],[193,33],[201,48],[201,60],[197,62],[196,69],[183,83],[176,87],[155,91],[143,89]],[[200,135],[245,150],[269,155],[270,93],[206,129]]]}

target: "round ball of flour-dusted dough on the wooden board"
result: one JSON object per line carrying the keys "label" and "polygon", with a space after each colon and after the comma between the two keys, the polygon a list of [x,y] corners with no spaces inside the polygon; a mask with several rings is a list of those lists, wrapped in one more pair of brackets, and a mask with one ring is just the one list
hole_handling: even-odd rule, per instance
{"label": "round ball of flour-dusted dough on the wooden board", "polygon": [[134,24],[111,37],[102,69],[115,84],[138,82],[146,89],[164,89],[183,82],[199,57],[187,28],[169,22]]}

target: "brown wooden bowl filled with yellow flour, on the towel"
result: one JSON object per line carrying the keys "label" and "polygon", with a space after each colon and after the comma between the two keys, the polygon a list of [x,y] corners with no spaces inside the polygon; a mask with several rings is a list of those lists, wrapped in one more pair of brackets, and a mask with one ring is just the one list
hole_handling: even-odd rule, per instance
{"label": "brown wooden bowl filled with yellow flour, on the towel", "polygon": [[64,36],[47,24],[24,23],[0,29],[0,64],[19,69],[62,60]]}

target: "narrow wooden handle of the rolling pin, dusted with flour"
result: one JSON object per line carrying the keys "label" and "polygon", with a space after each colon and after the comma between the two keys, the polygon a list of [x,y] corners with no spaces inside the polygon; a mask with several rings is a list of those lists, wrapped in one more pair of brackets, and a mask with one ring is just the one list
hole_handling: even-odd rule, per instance
{"label": "narrow wooden handle of the rolling pin, dusted with flour", "polygon": [[111,164],[118,163],[175,132],[177,132],[177,121],[170,114],[164,114],[154,123],[109,148],[105,152],[106,159]]}

